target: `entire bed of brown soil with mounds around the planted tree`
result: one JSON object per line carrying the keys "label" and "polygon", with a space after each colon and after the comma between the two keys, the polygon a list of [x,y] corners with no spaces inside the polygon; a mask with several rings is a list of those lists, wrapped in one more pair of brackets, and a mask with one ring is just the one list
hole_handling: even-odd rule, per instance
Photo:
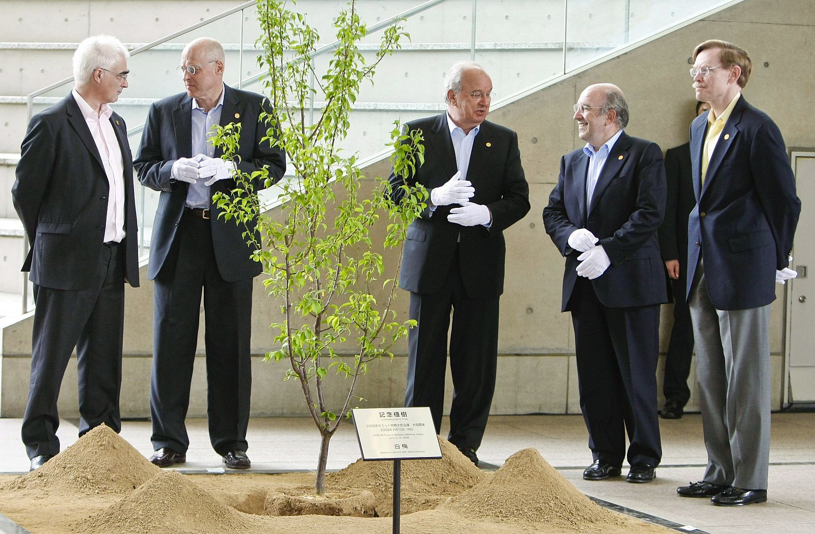
{"label": "entire bed of brown soil with mounds around the planted tree", "polygon": [[[443,443],[443,454],[439,461],[403,462],[407,501],[447,501],[403,514],[403,532],[671,532],[594,505],[534,449],[513,455],[493,476],[474,470],[449,444]],[[329,491],[340,479],[351,488],[373,484],[374,494],[387,493],[390,503],[390,466],[357,462],[329,479]],[[162,471],[107,428],[82,436],[33,473],[2,480],[7,483],[0,484],[0,511],[34,534],[381,534],[391,526],[389,518],[260,515],[269,492],[311,488],[314,474]]]}

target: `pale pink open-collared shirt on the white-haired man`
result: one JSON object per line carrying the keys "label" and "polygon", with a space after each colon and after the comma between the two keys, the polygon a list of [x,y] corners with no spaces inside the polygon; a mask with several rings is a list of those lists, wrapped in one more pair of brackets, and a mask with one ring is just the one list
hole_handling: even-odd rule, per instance
{"label": "pale pink open-collared shirt on the white-haired man", "polygon": [[108,217],[104,225],[104,242],[121,242],[125,238],[125,179],[124,163],[121,159],[121,147],[110,116],[113,110],[108,104],[102,104],[102,113],[95,109],[79,95],[76,88],[71,90],[77,101],[82,117],[94,138],[99,157],[102,158],[104,173],[108,176]]}

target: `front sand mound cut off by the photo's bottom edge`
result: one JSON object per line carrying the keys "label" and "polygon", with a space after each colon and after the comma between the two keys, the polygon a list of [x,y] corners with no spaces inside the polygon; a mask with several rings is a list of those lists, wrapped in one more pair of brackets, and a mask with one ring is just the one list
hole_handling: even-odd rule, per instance
{"label": "front sand mound cut off by the photo's bottom edge", "polygon": [[215,500],[189,477],[162,471],[108,510],[73,525],[81,534],[236,534],[258,532],[258,522]]}

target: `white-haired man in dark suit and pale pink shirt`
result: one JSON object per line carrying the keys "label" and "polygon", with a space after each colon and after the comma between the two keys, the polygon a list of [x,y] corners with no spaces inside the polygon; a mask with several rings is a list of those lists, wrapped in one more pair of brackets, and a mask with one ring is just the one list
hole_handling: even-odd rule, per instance
{"label": "white-haired man in dark suit and pale pink shirt", "polygon": [[59,452],[56,404],[74,346],[79,435],[121,429],[125,282],[139,285],[139,251],[127,128],[108,104],[127,87],[128,56],[109,36],[81,42],[76,85],[32,117],[11,189],[37,304],[22,429],[31,470]]}

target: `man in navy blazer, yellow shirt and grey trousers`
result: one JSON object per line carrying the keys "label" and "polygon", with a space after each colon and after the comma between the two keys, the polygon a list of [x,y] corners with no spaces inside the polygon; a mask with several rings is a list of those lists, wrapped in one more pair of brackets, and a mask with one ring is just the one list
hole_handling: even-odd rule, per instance
{"label": "man in navy blazer, yellow shirt and grey trousers", "polygon": [[677,488],[715,505],[767,500],[770,303],[788,268],[801,205],[784,140],[741,90],[750,56],[732,43],[694,50],[690,126],[696,207],[688,220],[688,298],[707,448],[703,480]]}

